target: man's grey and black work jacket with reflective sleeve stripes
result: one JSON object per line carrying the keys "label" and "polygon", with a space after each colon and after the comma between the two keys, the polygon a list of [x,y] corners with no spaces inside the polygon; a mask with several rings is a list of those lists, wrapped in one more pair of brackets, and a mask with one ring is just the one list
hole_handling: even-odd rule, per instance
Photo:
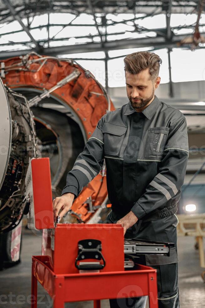
{"label": "man's grey and black work jacket with reflective sleeve stripes", "polygon": [[121,217],[131,210],[143,219],[177,204],[188,154],[186,119],[179,110],[156,96],[140,113],[129,102],[98,121],[67,174],[62,194],[71,192],[76,198],[105,159],[112,210]]}

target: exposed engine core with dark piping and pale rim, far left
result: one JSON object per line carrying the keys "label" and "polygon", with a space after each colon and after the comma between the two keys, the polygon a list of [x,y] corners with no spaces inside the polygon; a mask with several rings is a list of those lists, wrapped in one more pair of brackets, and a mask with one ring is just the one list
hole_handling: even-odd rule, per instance
{"label": "exposed engine core with dark piping and pale rim, far left", "polygon": [[[0,232],[8,232],[22,218],[26,205],[25,176],[37,150],[35,123],[26,97],[4,87],[2,82],[0,87],[4,93],[1,131],[6,131],[3,136],[1,133],[0,165],[4,170],[0,173]],[[5,122],[5,110],[9,123]]]}

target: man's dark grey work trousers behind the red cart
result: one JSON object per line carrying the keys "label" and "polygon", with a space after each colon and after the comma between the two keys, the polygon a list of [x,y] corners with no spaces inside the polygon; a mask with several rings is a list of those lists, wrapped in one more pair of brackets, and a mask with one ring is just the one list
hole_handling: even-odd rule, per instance
{"label": "man's dark grey work trousers behind the red cart", "polygon": [[[117,223],[120,218],[121,217],[111,211],[104,223]],[[136,263],[147,265],[157,270],[159,308],[180,307],[178,293],[178,259],[176,251],[177,223],[178,220],[176,215],[170,215],[145,223],[143,221],[138,221],[134,226],[129,228],[125,234],[125,239],[138,238],[175,243],[175,248],[171,249],[170,257],[146,255],[136,261]],[[112,299],[110,300],[110,308],[145,308],[146,300],[147,296]]]}

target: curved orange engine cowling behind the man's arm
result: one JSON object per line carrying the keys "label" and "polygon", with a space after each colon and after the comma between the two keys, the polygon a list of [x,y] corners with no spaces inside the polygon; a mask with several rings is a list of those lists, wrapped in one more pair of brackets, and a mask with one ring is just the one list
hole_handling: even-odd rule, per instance
{"label": "curved orange engine cowling behind the man's arm", "polygon": [[[59,196],[66,175],[98,120],[113,103],[95,77],[73,59],[31,52],[1,61],[3,83],[24,94],[34,114],[40,157],[50,157],[52,193]],[[97,222],[106,204],[106,169],[81,191],[66,217],[69,222]]]}

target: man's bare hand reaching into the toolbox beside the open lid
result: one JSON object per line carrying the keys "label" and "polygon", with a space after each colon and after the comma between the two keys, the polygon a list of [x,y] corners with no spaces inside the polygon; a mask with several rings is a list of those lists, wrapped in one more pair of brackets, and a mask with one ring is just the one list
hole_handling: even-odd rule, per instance
{"label": "man's bare hand reaching into the toolbox beside the open lid", "polygon": [[[60,216],[60,219],[65,215],[71,208],[73,199],[75,195],[72,193],[63,194],[61,197],[56,197],[53,200],[53,213],[54,213],[54,220],[56,216]],[[62,210],[60,212],[60,209]],[[60,214],[59,214],[60,212]]]}

